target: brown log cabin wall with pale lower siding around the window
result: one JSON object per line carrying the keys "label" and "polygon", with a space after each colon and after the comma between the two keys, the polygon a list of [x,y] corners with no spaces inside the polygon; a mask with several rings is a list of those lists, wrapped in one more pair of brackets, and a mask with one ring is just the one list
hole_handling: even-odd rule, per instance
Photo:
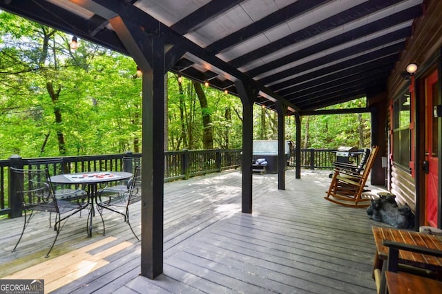
{"label": "brown log cabin wall with pale lower siding around the window", "polygon": [[[434,56],[438,55],[439,50],[442,47],[442,1],[440,0],[424,0],[423,1],[423,15],[414,21],[413,24],[413,32],[412,36],[407,39],[405,50],[403,50],[399,61],[396,63],[394,70],[390,74],[388,83],[387,83],[387,92],[388,92],[388,103],[387,107],[391,107],[393,105],[392,101],[395,98],[400,96],[404,89],[407,89],[408,85],[410,85],[410,80],[406,80],[401,73],[405,71],[405,67],[409,63],[417,63],[420,65],[418,72],[416,72],[416,81],[417,83],[421,83],[423,79],[419,82],[420,78],[425,77],[430,70],[434,70],[437,65],[437,59],[434,59]],[[425,66],[423,66],[425,65]],[[426,68],[425,68],[426,67]],[[418,85],[418,87],[421,87]],[[421,87],[422,88],[422,87]],[[421,105],[421,109],[424,108],[423,92],[418,90],[416,92],[417,103]],[[389,109],[390,110],[390,109]],[[415,114],[412,114],[414,116]],[[392,120],[392,112],[387,111],[387,120]],[[415,122],[414,127],[410,127],[411,129],[411,138],[413,138],[416,134],[416,129],[423,129],[424,124],[424,116],[420,116],[421,119]],[[386,134],[386,136],[390,136],[392,133]],[[422,134],[420,134],[422,136]],[[423,150],[425,148],[425,140],[422,137],[417,138],[416,142],[420,144],[421,154],[413,154],[412,158],[418,162],[423,160]],[[390,152],[392,150],[390,149]],[[411,153],[415,152],[415,148],[412,146],[410,150]],[[392,154],[392,158],[394,158],[394,154]],[[396,199],[401,204],[407,203],[412,210],[416,213],[416,185],[414,173],[412,171],[407,171],[403,169],[403,167],[399,167],[389,158],[391,173],[389,175],[390,182],[388,186],[391,187],[392,193],[396,195]],[[412,162],[411,162],[412,163]],[[422,180],[419,180],[422,182]],[[421,195],[425,192],[424,184],[419,185],[421,189]],[[423,197],[422,197],[423,198]],[[425,215],[425,211],[423,211],[425,205],[421,203],[421,209],[419,209],[420,213],[420,222],[423,224],[423,216]]]}

